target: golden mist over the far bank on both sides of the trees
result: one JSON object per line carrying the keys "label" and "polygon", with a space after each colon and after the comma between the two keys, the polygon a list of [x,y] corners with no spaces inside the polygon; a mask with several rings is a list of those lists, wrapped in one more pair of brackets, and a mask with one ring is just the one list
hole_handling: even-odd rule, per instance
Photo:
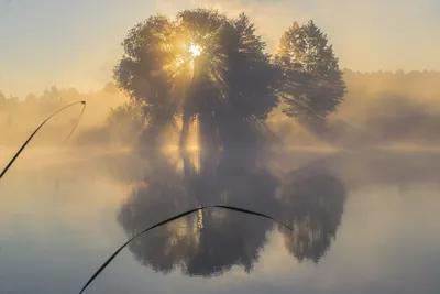
{"label": "golden mist over the far bank on both sides of the trees", "polygon": [[[266,124],[273,138],[287,149],[384,148],[393,144],[437,148],[440,139],[437,130],[440,123],[439,78],[438,72],[360,73],[345,69],[343,79],[348,91],[343,102],[329,117],[329,130],[324,135],[317,135],[298,121],[285,117],[280,111],[282,105],[272,110]],[[99,91],[79,92],[75,88],[58,89],[54,86],[40,96],[0,96],[0,144],[19,146],[47,116],[78,100],[85,100],[87,109],[72,139],[73,145],[136,145],[142,122],[133,120],[135,112],[130,113],[127,108],[129,96],[112,83]],[[33,144],[62,144],[79,111],[78,107],[56,117]],[[177,126],[182,128],[180,122]],[[167,144],[176,144],[176,140]]]}

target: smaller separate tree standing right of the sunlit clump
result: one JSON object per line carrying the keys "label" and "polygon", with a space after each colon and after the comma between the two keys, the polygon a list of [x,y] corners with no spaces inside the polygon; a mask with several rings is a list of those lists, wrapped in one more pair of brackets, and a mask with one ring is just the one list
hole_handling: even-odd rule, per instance
{"label": "smaller separate tree standing right of the sunlit clump", "polygon": [[314,21],[294,23],[280,39],[275,63],[280,69],[279,96],[284,112],[310,127],[323,119],[343,100],[345,84],[338,58],[327,35]]}

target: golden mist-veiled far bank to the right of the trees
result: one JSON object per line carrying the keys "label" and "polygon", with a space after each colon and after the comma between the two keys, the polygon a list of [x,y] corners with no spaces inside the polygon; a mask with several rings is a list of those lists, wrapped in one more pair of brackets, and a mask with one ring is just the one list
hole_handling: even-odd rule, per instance
{"label": "golden mist-veiled far bank to the right of the trees", "polygon": [[328,132],[316,137],[274,110],[268,126],[287,146],[419,145],[437,148],[440,89],[437,72],[361,73],[344,69],[348,92],[329,117]]}

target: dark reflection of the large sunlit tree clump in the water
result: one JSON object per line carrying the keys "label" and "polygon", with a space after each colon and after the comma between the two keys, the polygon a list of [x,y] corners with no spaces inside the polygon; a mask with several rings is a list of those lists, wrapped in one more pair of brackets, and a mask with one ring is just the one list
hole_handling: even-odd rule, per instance
{"label": "dark reflection of the large sunlit tree clump in the water", "polygon": [[[170,166],[155,167],[122,206],[120,224],[132,237],[148,224],[200,203],[274,214],[276,178],[262,170],[235,168],[226,162],[219,165],[222,167],[213,172],[187,174],[184,179]],[[272,226],[254,217],[210,209],[158,228],[130,244],[130,250],[142,264],[164,273],[180,268],[187,275],[211,276],[233,265],[250,272]]]}

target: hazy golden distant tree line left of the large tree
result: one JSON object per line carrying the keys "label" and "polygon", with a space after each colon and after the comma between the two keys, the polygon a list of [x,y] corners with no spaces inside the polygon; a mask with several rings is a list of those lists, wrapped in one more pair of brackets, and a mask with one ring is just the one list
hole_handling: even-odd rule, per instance
{"label": "hazy golden distant tree line left of the large tree", "polygon": [[[59,108],[79,100],[87,101],[80,128],[114,124],[113,112],[121,112],[128,102],[127,96],[109,83],[101,90],[79,92],[75,88],[59,89],[53,86],[41,95],[30,94],[24,98],[6,97],[0,92],[0,145],[13,145],[22,142],[47,116]],[[69,109],[55,117],[44,131],[38,133],[36,144],[59,142],[69,132],[80,109]],[[120,117],[120,115],[118,116]],[[119,124],[125,123],[120,121]]]}

